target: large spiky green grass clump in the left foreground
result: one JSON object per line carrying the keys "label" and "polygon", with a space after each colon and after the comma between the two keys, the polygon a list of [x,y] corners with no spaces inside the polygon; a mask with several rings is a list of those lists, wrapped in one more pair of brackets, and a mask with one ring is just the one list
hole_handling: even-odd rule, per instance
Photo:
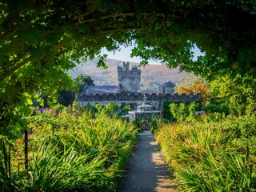
{"label": "large spiky green grass clump in the left foreground", "polygon": [[42,142],[31,158],[30,170],[22,180],[23,191],[75,191],[114,189],[114,174],[102,167],[102,155],[79,154],[74,146],[59,154],[58,146]]}

